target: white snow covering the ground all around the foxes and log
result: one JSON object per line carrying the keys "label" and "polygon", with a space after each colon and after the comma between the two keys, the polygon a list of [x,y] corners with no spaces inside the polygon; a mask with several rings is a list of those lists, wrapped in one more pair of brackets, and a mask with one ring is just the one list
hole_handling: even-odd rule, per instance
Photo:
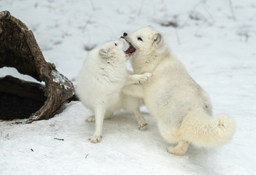
{"label": "white snow covering the ground all around the foxes and log", "polygon": [[[137,129],[133,114],[117,112],[104,121],[101,143],[91,144],[94,124],[85,123],[91,112],[71,102],[50,120],[0,123],[0,174],[256,174],[256,2],[230,1],[0,1],[0,11],[26,23],[46,61],[72,82],[85,48],[154,26],[209,93],[214,113],[228,113],[237,123],[223,147],[190,147],[175,156],[166,152],[168,144],[145,107],[147,130]],[[180,27],[160,25],[170,21]],[[0,77],[7,74],[31,80],[0,69]]]}

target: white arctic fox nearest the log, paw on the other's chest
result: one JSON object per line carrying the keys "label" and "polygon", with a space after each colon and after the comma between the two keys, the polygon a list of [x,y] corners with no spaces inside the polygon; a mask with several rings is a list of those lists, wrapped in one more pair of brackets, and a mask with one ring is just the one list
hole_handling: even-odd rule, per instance
{"label": "white arctic fox nearest the log, paw on the other's chest", "polygon": [[139,112],[142,100],[122,93],[124,85],[146,82],[152,74],[129,74],[125,62],[129,55],[123,52],[125,40],[108,42],[88,53],[82,70],[77,77],[77,95],[82,104],[95,115],[87,122],[96,122],[96,131],[90,141],[101,141],[102,125],[105,118],[111,117],[118,109],[133,111],[139,129],[147,128],[144,117]]}

